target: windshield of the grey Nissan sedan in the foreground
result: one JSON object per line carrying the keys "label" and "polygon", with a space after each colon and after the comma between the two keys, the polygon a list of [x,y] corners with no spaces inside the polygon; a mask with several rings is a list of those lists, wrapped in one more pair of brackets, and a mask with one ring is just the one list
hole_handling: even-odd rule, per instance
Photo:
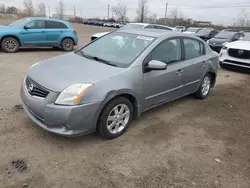
{"label": "windshield of the grey Nissan sedan in the foreground", "polygon": [[128,67],[154,40],[153,37],[115,32],[97,39],[78,54],[113,66]]}

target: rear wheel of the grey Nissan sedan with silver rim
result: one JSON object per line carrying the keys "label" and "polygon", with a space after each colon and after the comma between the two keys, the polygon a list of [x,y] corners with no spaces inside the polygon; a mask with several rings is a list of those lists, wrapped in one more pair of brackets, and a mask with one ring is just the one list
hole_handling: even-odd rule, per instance
{"label": "rear wheel of the grey Nissan sedan with silver rim", "polygon": [[209,74],[206,74],[202,79],[201,85],[197,92],[194,93],[195,98],[197,99],[206,99],[210,95],[212,87],[212,77]]}

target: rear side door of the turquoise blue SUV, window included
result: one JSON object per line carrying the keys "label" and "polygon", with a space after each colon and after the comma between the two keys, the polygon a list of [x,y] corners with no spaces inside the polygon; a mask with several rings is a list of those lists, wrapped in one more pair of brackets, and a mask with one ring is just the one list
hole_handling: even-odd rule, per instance
{"label": "rear side door of the turquoise blue SUV, window included", "polygon": [[68,27],[57,21],[46,21],[46,31],[45,31],[45,36],[46,36],[46,41],[48,45],[59,45],[60,44],[60,39],[61,35],[63,32],[65,32]]}

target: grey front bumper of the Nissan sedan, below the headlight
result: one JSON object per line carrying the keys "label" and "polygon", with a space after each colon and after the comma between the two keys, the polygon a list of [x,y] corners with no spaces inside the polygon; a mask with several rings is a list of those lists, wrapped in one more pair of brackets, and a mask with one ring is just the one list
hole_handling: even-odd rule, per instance
{"label": "grey front bumper of the Nissan sedan, below the headlight", "polygon": [[31,96],[23,82],[20,95],[24,110],[39,127],[58,135],[80,136],[95,132],[100,103],[78,106],[54,104],[59,93],[50,92],[46,98]]}

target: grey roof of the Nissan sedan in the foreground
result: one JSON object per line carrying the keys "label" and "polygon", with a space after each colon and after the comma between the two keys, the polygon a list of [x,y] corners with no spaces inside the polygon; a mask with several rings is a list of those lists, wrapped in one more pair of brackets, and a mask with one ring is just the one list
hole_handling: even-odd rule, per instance
{"label": "grey roof of the Nissan sedan in the foreground", "polygon": [[[192,37],[187,34],[177,33],[171,30],[162,30],[162,29],[137,29],[137,28],[128,28],[123,30],[117,30],[115,32],[119,33],[129,33],[129,34],[136,34],[154,38],[160,38],[162,36],[169,36],[169,37],[177,37],[177,36],[184,36],[184,37]],[[196,37],[193,37],[196,38]]]}

